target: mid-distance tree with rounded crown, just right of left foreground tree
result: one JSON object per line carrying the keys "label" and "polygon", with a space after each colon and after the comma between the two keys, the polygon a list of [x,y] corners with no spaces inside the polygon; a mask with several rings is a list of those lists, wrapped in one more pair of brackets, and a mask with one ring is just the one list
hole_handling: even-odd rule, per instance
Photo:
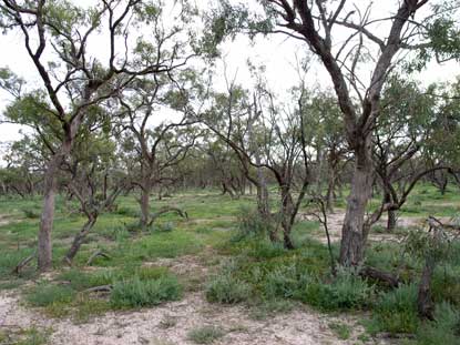
{"label": "mid-distance tree with rounded crown, just right of left foreground tree", "polygon": [[[159,59],[155,57],[155,59]],[[187,95],[182,92],[193,72],[185,71],[181,75],[153,75],[137,78],[131,88],[119,94],[121,120],[120,128],[131,150],[131,180],[139,187],[141,196],[141,225],[151,223],[150,202],[153,187],[165,182],[175,182],[172,170],[183,161],[194,145],[198,131],[191,128]],[[162,120],[164,114],[178,118],[176,121]],[[139,172],[139,173],[137,173]]]}

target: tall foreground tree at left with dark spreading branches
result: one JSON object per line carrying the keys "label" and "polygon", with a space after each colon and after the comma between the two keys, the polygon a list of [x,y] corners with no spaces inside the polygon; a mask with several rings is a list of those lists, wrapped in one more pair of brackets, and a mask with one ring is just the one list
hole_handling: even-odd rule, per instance
{"label": "tall foreground tree at left with dark spreading branches", "polygon": [[[67,0],[2,0],[0,11],[2,29],[19,33],[43,85],[33,122],[40,128],[52,124],[54,145],[44,173],[38,241],[38,266],[45,271],[52,264],[58,171],[84,125],[88,109],[119,93],[137,75],[175,69],[193,52],[177,49],[154,62],[144,59],[162,48],[153,43],[149,31],[162,12],[161,2],[101,0],[93,7],[79,7]],[[187,11],[178,12],[178,17],[188,16]],[[99,55],[96,45],[104,50]]]}

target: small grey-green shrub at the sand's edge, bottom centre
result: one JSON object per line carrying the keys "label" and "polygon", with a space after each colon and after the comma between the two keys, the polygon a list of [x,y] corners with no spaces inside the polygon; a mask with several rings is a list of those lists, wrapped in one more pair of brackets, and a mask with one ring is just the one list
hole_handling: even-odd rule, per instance
{"label": "small grey-green shrub at the sand's edge, bottom centre", "polygon": [[212,303],[235,304],[249,298],[251,285],[224,272],[206,284],[206,300]]}

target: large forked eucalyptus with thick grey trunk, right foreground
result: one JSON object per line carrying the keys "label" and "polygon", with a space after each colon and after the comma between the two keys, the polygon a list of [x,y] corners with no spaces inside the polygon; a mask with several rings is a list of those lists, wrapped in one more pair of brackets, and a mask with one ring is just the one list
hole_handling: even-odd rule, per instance
{"label": "large forked eucalyptus with thick grey trunk, right foreground", "polygon": [[[359,265],[367,241],[366,206],[374,182],[372,130],[381,110],[381,91],[388,72],[400,61],[397,58],[401,50],[435,47],[430,41],[431,24],[444,9],[433,8],[419,19],[420,9],[429,1],[405,0],[396,4],[393,14],[374,18],[371,9],[376,3],[362,7],[347,0],[258,2],[262,11],[252,16],[245,4],[221,1],[221,12],[211,24],[214,39],[222,40],[242,28],[253,34],[283,33],[304,42],[328,72],[355,164],[339,261],[346,266]],[[370,78],[366,80],[366,75]]]}

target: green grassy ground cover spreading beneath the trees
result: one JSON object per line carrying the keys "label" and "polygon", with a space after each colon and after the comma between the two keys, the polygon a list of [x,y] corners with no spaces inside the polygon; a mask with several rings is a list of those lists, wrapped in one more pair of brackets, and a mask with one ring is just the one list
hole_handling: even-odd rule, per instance
{"label": "green grassy ground cover spreading beneath the trees", "polygon": [[[346,194],[336,209],[345,205]],[[273,210],[276,210],[277,195],[273,196]],[[376,195],[369,210],[379,202]],[[403,244],[370,243],[366,252],[366,264],[399,274],[406,285],[398,290],[388,290],[352,272],[339,271],[333,277],[328,250],[315,240],[323,235],[323,227],[317,222],[297,222],[292,234],[295,250],[287,251],[282,243],[268,241],[267,224],[253,217],[254,195],[232,200],[217,191],[200,190],[176,193],[163,201],[152,197],[152,212],[174,205],[185,210],[190,220],[165,214],[144,231],[139,227],[135,195],[121,196],[114,212],[100,216],[72,268],[62,264],[62,257],[85,220],[72,213],[78,209],[76,203],[67,202],[65,206],[63,197],[58,196],[57,205],[53,229],[57,274],[49,281],[33,283],[34,263],[20,276],[12,275],[11,270],[34,252],[41,199],[0,197],[0,214],[8,214],[13,221],[0,226],[0,290],[21,291],[29,306],[42,308],[48,316],[90,322],[92,316],[110,310],[153,307],[196,291],[204,293],[209,303],[241,303],[257,319],[268,319],[306,304],[326,313],[360,315],[365,311],[371,315],[365,317],[369,318],[366,322],[369,334],[411,334],[413,344],[449,344],[458,334],[453,322],[460,307],[458,243],[451,244],[451,255],[435,272],[436,319],[422,322],[415,307],[415,294],[423,263],[407,255]],[[442,196],[433,186],[420,184],[400,215],[452,216],[459,213],[459,206],[460,193],[453,186]],[[372,231],[385,232],[378,226]],[[403,235],[406,230],[398,229],[396,233]],[[85,263],[96,250],[110,257],[95,258],[90,270]],[[338,243],[333,244],[333,251],[338,257]],[[177,273],[176,277],[172,272],[174,263],[184,261],[186,266],[188,256],[198,256],[207,273]],[[173,263],[171,271],[162,267],[162,262]],[[218,266],[219,262],[224,264]],[[112,285],[113,291],[105,295],[85,292],[100,285]],[[345,324],[331,323],[329,327],[338,338],[351,336]],[[211,328],[195,331],[198,341],[218,338],[213,337]]]}

